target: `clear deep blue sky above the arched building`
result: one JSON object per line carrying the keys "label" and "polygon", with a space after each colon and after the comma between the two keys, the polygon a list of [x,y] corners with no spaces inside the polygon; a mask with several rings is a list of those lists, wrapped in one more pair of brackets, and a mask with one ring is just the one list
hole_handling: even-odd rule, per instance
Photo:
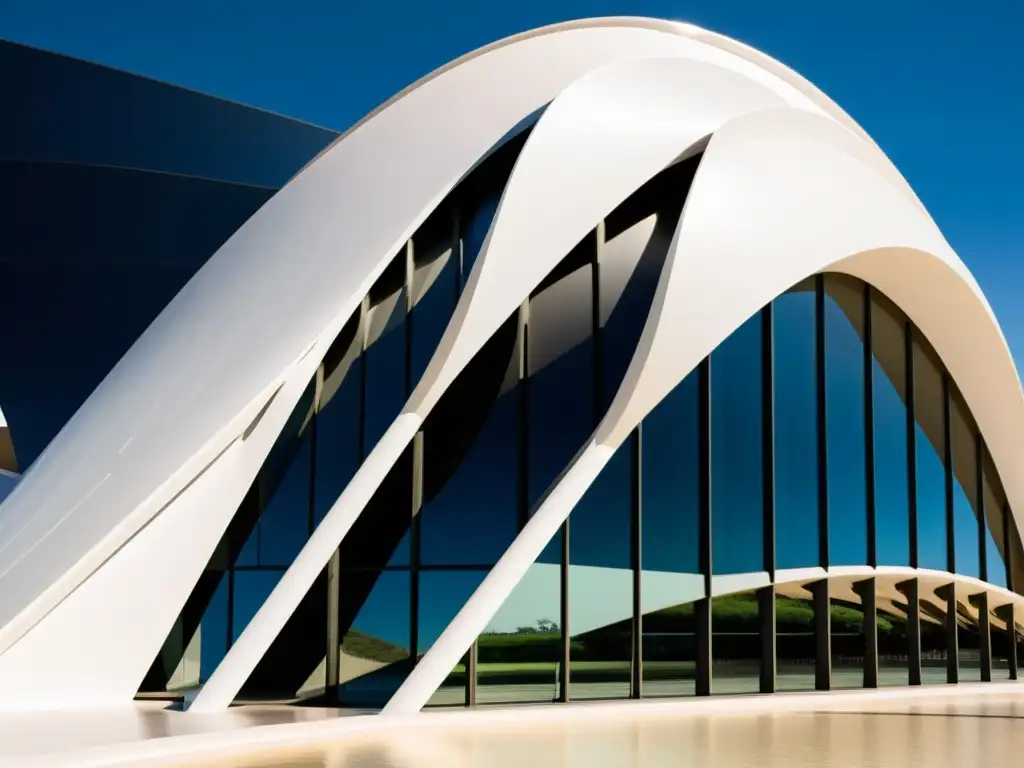
{"label": "clear deep blue sky above the arched building", "polygon": [[340,130],[492,40],[620,14],[724,33],[828,93],[918,190],[1024,362],[1022,0],[0,0],[0,37]]}

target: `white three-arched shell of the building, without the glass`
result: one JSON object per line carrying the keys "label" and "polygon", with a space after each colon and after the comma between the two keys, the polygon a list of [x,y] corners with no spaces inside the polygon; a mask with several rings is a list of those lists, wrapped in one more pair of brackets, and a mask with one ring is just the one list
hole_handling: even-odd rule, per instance
{"label": "white three-arched shell of the building, without the glass", "polygon": [[[815,271],[878,286],[925,332],[1024,514],[1024,478],[1012,471],[1024,456],[1024,396],[1006,341],[863,131],[798,75],[721,36],[655,19],[558,25],[441,68],[325,150],[196,274],[37,460],[0,506],[0,707],[33,686],[40,707],[130,698],[330,343],[438,203],[542,109],[423,381],[199,709],[230,701],[498,326],[608,211],[706,144],[611,411],[417,668],[402,706],[446,674],[632,426],[745,317]],[[148,629],[126,631],[133,623]],[[69,633],[79,643],[63,647]]]}

